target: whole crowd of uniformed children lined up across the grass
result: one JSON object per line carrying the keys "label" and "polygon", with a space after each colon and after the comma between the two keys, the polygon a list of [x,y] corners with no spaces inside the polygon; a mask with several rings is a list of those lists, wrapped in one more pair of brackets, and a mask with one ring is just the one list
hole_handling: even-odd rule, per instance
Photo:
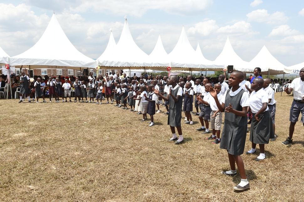
{"label": "whole crowd of uniformed children lined up across the grass", "polygon": [[[62,97],[62,102],[67,102],[67,97],[72,102],[71,88],[74,89],[74,102],[77,102],[77,99],[79,102],[84,102],[85,98],[86,103],[94,103],[96,100],[95,104],[102,104],[102,100],[107,98],[105,104],[110,102],[113,104],[115,100],[116,104],[113,106],[142,114],[141,122],[147,121],[147,114],[149,114],[149,127],[155,125],[154,116],[161,112],[160,106],[163,105],[166,108],[164,114],[168,115],[167,124],[172,133],[169,141],[173,141],[175,144],[184,143],[181,128],[182,111],[185,113],[185,124],[193,125],[192,115],[198,115],[201,127],[196,130],[201,131],[202,134],[212,133],[206,139],[214,140],[213,144],[220,143],[220,148],[228,151],[231,169],[223,171],[221,174],[235,175],[235,164],[237,164],[241,182],[233,189],[244,190],[249,188],[249,182],[240,155],[244,153],[246,135],[249,132],[248,118],[252,118],[249,138],[252,148],[246,154],[256,153],[256,144],[259,144],[260,154],[255,160],[261,161],[266,158],[265,144],[268,144],[270,139],[275,140],[276,101],[274,91],[270,88],[272,81],[262,79],[259,75],[260,72],[260,68],[255,68],[254,77],[246,81],[246,73],[234,71],[231,73],[228,83],[224,81],[225,76],[222,74],[218,77],[218,83],[214,83],[208,78],[193,79],[189,75],[186,77],[185,83],[184,78],[177,76],[169,78],[156,76],[154,78],[149,75],[144,78],[142,75],[140,78],[137,76],[126,78],[121,70],[120,75],[112,73],[96,79],[91,74],[88,82],[80,81],[78,78],[71,82],[69,78],[65,78],[63,83],[59,78],[49,77],[45,83],[41,78],[37,78],[34,89],[37,103],[40,97],[43,98],[43,102],[46,102],[45,88],[48,88],[50,102],[52,102],[52,98],[55,99],[55,102],[59,102],[59,97]],[[22,102],[26,96],[30,102],[30,81],[24,72],[21,74],[19,102]],[[282,144],[292,144],[294,125],[300,112],[302,113],[301,122],[304,122],[303,89],[304,68],[300,71],[300,78],[295,79],[290,88],[284,89],[287,94],[293,90],[295,99],[291,108],[289,137]],[[89,101],[87,97],[90,98]],[[223,116],[224,127],[222,137],[220,137]]]}

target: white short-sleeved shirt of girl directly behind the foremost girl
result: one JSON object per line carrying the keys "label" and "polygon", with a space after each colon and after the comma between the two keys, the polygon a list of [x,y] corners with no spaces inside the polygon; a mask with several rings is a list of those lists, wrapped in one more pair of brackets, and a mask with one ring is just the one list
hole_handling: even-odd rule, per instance
{"label": "white short-sleeved shirt of girl directly behind the foremost girl", "polygon": [[[262,107],[263,103],[268,104],[268,94],[265,92],[265,90],[260,89],[258,92],[252,91],[249,97],[249,104],[250,104],[250,109],[252,113],[257,113]],[[268,111],[268,105],[265,111]]]}

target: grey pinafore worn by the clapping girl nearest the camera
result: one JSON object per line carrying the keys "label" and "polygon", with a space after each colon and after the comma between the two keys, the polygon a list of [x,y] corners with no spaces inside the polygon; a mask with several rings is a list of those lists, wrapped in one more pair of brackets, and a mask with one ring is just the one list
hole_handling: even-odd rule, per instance
{"label": "grey pinafore worn by the clapping girl nearest the camera", "polygon": [[[240,102],[245,91],[242,89],[235,96],[229,95],[230,91],[231,89],[227,90],[225,108],[231,104],[233,109],[242,111]],[[247,116],[242,117],[225,111],[224,123],[220,148],[227,149],[232,155],[243,154],[247,134]]]}

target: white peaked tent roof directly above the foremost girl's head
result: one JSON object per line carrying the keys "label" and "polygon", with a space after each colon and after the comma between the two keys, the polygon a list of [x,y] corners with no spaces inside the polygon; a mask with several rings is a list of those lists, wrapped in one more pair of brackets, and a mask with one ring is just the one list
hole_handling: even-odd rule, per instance
{"label": "white peaked tent roof directly above the foremost girl's head", "polygon": [[227,37],[222,53],[214,60],[215,63],[224,64],[225,67],[233,65],[234,70],[253,72],[254,66],[242,60],[233,50],[229,37]]}

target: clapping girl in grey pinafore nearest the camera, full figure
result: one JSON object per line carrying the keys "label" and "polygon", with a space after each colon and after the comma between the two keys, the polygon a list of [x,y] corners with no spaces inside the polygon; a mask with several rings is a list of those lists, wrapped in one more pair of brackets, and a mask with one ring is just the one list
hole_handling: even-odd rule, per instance
{"label": "clapping girl in grey pinafore nearest the camera, full figure", "polygon": [[210,94],[214,98],[218,109],[225,111],[225,124],[220,143],[221,149],[226,149],[230,164],[229,171],[223,171],[221,174],[235,175],[235,163],[238,166],[238,172],[241,176],[241,182],[233,187],[234,190],[241,191],[249,189],[249,182],[246,178],[244,162],[241,154],[244,153],[246,130],[247,130],[247,108],[249,106],[248,93],[245,92],[239,84],[243,81],[244,74],[240,71],[234,71],[230,74],[228,84],[232,86],[227,90],[221,100],[213,88],[210,88]]}

